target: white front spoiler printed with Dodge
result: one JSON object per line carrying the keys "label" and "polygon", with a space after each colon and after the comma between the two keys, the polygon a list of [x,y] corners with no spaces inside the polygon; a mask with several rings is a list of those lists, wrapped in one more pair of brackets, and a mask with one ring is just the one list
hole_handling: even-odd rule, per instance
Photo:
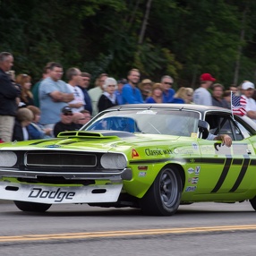
{"label": "white front spoiler printed with Dodge", "polygon": [[115,202],[123,184],[93,186],[43,186],[0,182],[0,199],[47,204]]}

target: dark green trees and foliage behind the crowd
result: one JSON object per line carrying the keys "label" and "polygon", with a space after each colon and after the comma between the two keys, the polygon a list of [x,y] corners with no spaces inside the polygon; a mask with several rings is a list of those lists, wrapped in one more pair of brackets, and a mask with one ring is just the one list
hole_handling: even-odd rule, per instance
{"label": "dark green trees and foliage behind the crowd", "polygon": [[119,79],[137,67],[142,77],[169,74],[180,86],[195,87],[201,73],[212,73],[227,87],[240,57],[239,82],[255,82],[255,1],[153,0],[138,44],[147,3],[1,0],[0,51],[12,52],[16,73],[34,81],[56,61],[93,78]]}

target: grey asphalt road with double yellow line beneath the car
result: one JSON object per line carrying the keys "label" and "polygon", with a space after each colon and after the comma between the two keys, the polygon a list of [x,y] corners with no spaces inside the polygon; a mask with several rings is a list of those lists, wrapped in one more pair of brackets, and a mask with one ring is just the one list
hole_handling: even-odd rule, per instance
{"label": "grey asphalt road with double yellow line beneath the car", "polygon": [[0,203],[0,255],[255,255],[249,202],[181,206],[173,217],[137,209],[55,205],[44,214]]}

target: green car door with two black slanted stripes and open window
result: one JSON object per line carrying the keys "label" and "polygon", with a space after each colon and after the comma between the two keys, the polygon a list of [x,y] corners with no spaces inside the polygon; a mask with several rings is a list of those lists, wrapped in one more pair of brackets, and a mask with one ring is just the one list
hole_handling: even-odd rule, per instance
{"label": "green car door with two black slanted stripes and open window", "polygon": [[209,132],[228,134],[233,144],[228,148],[221,141],[199,139],[201,165],[197,193],[214,200],[223,200],[224,195],[239,200],[239,194],[247,192],[255,180],[252,142],[250,138],[244,138],[232,115],[212,112],[205,120],[209,122]]}

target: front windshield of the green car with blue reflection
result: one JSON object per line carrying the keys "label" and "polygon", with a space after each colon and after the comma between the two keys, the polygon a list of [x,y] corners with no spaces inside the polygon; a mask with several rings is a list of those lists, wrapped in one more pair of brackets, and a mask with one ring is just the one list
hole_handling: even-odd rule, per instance
{"label": "front windshield of the green car with blue reflection", "polygon": [[200,114],[180,110],[125,110],[107,112],[83,127],[84,131],[114,130],[191,137]]}

